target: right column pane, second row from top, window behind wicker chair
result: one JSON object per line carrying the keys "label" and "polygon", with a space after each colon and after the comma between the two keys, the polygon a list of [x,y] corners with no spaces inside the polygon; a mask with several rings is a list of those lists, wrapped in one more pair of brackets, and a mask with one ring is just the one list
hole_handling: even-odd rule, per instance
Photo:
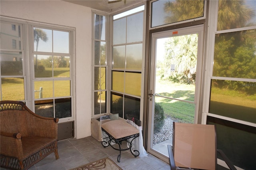
{"label": "right column pane, second row from top, window behind wicker chair", "polygon": [[70,77],[70,57],[53,56],[53,76],[54,77]]}

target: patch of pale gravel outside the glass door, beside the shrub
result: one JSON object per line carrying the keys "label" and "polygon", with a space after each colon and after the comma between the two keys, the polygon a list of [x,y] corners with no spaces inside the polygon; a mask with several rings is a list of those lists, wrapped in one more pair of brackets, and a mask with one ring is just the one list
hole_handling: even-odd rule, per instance
{"label": "patch of pale gravel outside the glass door, beside the shrub", "polygon": [[154,133],[153,145],[172,139],[172,122],[173,120],[171,118],[164,119],[162,129],[159,132]]}

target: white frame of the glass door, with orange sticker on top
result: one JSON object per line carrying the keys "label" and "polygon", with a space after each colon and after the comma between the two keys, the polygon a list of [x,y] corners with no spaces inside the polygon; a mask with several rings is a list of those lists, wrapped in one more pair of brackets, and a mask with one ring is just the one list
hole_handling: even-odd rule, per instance
{"label": "white frame of the glass door, with orange sticker on top", "polygon": [[[178,34],[177,34],[178,32]],[[166,38],[166,37],[173,37],[173,36],[181,36],[187,34],[195,34],[198,33],[198,58],[197,58],[197,71],[196,71],[196,89],[195,89],[195,99],[194,104],[196,105],[195,108],[195,116],[194,116],[194,123],[201,123],[202,117],[202,108],[201,108],[201,96],[202,96],[202,83],[203,83],[203,66],[204,66],[204,24],[190,26],[185,28],[178,28],[174,30],[167,30],[162,32],[155,32],[152,33],[151,36],[151,70],[150,70],[150,87],[149,91],[152,90],[152,94],[155,93],[155,78],[156,78],[156,40],[159,38]],[[148,94],[148,98],[150,98],[150,94]],[[160,158],[161,160],[168,162],[169,158],[161,154],[160,152],[152,149],[152,141],[153,141],[153,134],[154,134],[154,96],[151,96],[152,100],[149,101],[149,118],[148,118],[148,141],[147,141],[147,151]],[[167,150],[167,146],[166,146]]]}

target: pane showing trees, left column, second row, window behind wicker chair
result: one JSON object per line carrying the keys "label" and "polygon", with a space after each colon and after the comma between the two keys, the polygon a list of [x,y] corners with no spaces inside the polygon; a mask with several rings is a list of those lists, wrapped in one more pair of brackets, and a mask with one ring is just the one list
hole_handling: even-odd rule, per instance
{"label": "pane showing trees, left column, second row, window behind wicker chair", "polygon": [[52,56],[34,55],[35,78],[52,77]]}

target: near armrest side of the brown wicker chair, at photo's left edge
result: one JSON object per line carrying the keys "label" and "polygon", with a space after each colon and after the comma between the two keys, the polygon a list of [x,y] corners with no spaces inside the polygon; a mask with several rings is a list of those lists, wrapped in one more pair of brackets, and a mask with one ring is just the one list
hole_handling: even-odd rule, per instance
{"label": "near armrest side of the brown wicker chair, at photo's left edge", "polygon": [[1,131],[0,134],[1,154],[17,157],[19,160],[22,160],[24,155],[22,150],[21,134],[3,131]]}

